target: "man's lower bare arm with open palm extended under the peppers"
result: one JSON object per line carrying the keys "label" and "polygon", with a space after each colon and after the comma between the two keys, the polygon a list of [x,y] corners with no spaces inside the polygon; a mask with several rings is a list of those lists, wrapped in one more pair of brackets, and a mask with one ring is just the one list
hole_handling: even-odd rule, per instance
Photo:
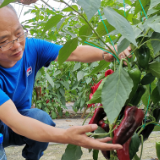
{"label": "man's lower bare arm with open palm extended under the peppers", "polygon": [[97,129],[97,125],[75,126],[67,130],[55,128],[38,120],[21,115],[14,103],[8,100],[0,106],[0,119],[15,133],[39,142],[57,142],[75,144],[85,148],[98,150],[121,149],[118,144],[107,144],[111,138],[95,140],[85,133]]}

